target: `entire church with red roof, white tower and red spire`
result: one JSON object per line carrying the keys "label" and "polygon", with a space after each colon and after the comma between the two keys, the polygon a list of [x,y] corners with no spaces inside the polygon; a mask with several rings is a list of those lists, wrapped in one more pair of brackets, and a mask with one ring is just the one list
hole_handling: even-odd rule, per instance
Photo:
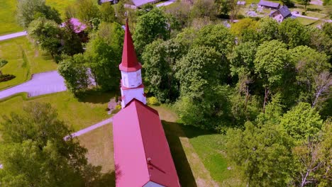
{"label": "entire church with red roof, white tower and red spire", "polygon": [[121,111],[114,115],[117,187],[179,187],[179,179],[159,114],[146,106],[133,39],[126,23],[121,70]]}

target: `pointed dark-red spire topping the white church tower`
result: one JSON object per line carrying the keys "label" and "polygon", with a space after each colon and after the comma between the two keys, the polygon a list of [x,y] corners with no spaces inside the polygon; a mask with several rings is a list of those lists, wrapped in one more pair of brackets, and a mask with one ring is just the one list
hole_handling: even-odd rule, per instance
{"label": "pointed dark-red spire topping the white church tower", "polygon": [[128,26],[128,19],[126,20],[126,31],[123,42],[122,62],[118,66],[123,72],[135,72],[142,68],[142,65],[138,62],[133,45],[133,38],[131,38],[131,31]]}

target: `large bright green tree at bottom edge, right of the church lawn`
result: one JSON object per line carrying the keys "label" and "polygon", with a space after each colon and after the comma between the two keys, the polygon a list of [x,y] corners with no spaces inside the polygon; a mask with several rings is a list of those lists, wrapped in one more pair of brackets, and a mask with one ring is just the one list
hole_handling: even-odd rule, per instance
{"label": "large bright green tree at bottom edge, right of the church lawn", "polygon": [[292,141],[277,125],[247,122],[243,131],[229,129],[226,138],[226,154],[240,166],[247,186],[287,186]]}

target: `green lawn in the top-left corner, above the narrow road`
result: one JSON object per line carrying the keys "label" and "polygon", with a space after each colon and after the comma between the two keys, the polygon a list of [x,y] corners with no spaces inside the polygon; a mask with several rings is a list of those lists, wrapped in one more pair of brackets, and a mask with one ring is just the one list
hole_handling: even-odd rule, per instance
{"label": "green lawn in the top-left corner, above the narrow road", "polygon": [[0,35],[16,33],[23,28],[16,23],[17,0],[2,0],[0,3]]}

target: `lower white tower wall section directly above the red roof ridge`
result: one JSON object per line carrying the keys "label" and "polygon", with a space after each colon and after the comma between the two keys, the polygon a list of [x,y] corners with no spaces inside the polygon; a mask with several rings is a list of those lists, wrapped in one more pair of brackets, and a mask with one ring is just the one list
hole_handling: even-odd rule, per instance
{"label": "lower white tower wall section directly above the red roof ridge", "polygon": [[122,89],[121,88],[121,107],[125,108],[126,105],[133,100],[133,98],[137,99],[138,101],[146,104],[146,97],[144,96],[144,88],[137,88],[137,89]]}

